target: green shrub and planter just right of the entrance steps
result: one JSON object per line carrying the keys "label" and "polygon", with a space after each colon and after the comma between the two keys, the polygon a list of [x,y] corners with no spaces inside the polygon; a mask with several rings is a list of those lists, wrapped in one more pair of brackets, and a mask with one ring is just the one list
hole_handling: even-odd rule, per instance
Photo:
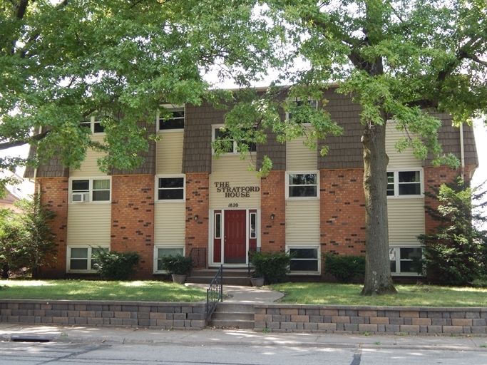
{"label": "green shrub and planter just right of the entrance steps", "polygon": [[252,252],[250,262],[254,277],[264,277],[267,284],[287,281],[292,255],[286,252]]}

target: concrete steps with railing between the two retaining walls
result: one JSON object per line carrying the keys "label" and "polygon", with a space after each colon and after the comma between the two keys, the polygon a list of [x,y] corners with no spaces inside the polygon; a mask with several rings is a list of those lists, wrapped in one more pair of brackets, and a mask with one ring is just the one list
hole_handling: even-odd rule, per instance
{"label": "concrete steps with railing between the two retaining walls", "polygon": [[237,327],[254,329],[255,309],[253,304],[218,303],[210,320],[212,327]]}

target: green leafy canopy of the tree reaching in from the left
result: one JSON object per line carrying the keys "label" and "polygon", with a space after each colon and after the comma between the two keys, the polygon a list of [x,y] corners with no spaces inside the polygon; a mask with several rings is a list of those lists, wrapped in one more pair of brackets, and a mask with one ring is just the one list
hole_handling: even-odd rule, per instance
{"label": "green leafy canopy of the tree reaching in from the left", "polygon": [[[31,143],[36,158],[56,155],[77,168],[92,148],[109,152],[103,170],[137,167],[138,153],[148,149],[138,120],[155,121],[155,113],[164,113],[161,103],[201,103],[211,86],[203,78],[209,71],[214,81],[232,78],[245,86],[277,60],[274,32],[253,6],[220,0],[4,1],[0,149]],[[103,143],[81,128],[93,115],[102,118]],[[24,163],[5,158],[0,168]]]}

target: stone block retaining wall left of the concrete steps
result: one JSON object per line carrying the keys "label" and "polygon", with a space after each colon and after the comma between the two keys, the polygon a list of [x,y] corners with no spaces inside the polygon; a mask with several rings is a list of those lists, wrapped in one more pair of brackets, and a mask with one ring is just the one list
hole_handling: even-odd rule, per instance
{"label": "stone block retaining wall left of the concrete steps", "polygon": [[0,322],[203,329],[206,303],[0,299]]}

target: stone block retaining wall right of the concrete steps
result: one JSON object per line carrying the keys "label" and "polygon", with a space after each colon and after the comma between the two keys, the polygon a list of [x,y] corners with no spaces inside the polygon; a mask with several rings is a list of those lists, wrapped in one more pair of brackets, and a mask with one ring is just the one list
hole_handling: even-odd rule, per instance
{"label": "stone block retaining wall right of the concrete steps", "polygon": [[339,334],[487,333],[487,308],[255,305],[255,329]]}

